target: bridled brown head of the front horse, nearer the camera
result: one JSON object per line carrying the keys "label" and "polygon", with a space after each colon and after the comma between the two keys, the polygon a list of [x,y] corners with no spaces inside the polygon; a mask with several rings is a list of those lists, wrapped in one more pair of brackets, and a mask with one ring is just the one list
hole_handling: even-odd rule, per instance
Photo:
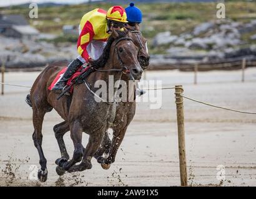
{"label": "bridled brown head of the front horse, nearer the camera", "polygon": [[134,80],[140,80],[142,68],[138,61],[138,47],[134,44],[130,37],[127,37],[126,32],[112,30],[112,62],[115,67],[124,69],[124,73],[130,75]]}

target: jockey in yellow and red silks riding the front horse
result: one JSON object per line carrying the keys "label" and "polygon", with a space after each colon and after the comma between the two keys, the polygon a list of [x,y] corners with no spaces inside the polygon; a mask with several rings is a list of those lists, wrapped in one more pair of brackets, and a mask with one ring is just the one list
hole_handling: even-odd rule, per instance
{"label": "jockey in yellow and red silks riding the front horse", "polygon": [[77,40],[77,52],[79,56],[69,63],[61,80],[57,81],[53,91],[61,91],[66,86],[67,80],[84,63],[97,60],[111,35],[111,28],[122,30],[127,22],[126,11],[121,6],[112,6],[108,11],[94,9],[87,12],[79,25],[79,38]]}

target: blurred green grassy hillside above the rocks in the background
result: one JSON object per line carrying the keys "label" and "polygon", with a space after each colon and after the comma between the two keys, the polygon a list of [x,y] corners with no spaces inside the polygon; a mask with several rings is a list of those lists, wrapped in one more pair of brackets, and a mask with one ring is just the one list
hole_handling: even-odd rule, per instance
{"label": "blurred green grassy hillside above the rocks in the background", "polygon": [[[0,8],[1,14],[23,14],[41,32],[61,34],[62,26],[78,25],[81,17],[88,11],[101,7],[107,10],[111,4],[80,4],[59,7],[39,7],[39,18],[29,19],[29,7],[13,6],[10,9]],[[126,7],[127,5],[122,5]],[[143,13],[142,34],[150,42],[158,33],[170,30],[172,34],[181,34],[194,29],[195,25],[216,19],[215,2],[183,2],[161,4],[137,4]],[[225,2],[227,19],[248,22],[256,19],[256,2]],[[57,19],[57,20],[56,20]],[[246,37],[245,37],[246,39]],[[53,42],[64,42],[61,36]],[[72,39],[67,39],[72,40]],[[66,40],[66,41],[67,41]],[[152,49],[151,49],[152,50]],[[160,50],[160,49],[159,49]],[[157,50],[156,50],[157,51]]]}

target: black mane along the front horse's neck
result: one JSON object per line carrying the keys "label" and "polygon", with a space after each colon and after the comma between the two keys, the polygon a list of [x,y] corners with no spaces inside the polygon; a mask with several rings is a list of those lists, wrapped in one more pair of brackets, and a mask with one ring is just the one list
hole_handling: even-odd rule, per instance
{"label": "black mane along the front horse's neck", "polygon": [[91,62],[92,67],[94,68],[102,68],[107,63],[107,60],[109,59],[109,53],[111,52],[111,45],[113,44],[114,40],[120,39],[122,37],[127,37],[126,33],[124,31],[116,31],[118,33],[118,37],[114,39],[112,35],[107,40],[107,44],[103,49],[101,57],[99,57],[94,62]]}

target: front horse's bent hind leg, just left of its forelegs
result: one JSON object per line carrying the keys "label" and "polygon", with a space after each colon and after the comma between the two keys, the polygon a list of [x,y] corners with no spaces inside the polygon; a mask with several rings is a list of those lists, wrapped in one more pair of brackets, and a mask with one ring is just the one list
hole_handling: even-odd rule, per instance
{"label": "front horse's bent hind leg, just left of its forelegs", "polygon": [[61,151],[61,158],[69,160],[69,154],[67,154],[66,145],[63,140],[64,134],[69,131],[69,123],[64,121],[62,123],[56,124],[53,127],[53,131],[59,145],[59,150]]}

